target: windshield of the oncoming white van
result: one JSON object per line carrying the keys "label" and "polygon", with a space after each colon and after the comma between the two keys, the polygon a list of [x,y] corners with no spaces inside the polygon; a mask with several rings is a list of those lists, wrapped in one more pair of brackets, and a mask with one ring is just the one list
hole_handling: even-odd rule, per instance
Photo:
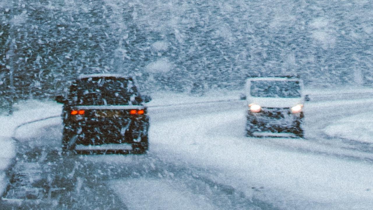
{"label": "windshield of the oncoming white van", "polygon": [[250,95],[254,97],[298,98],[301,97],[301,87],[299,81],[251,81]]}

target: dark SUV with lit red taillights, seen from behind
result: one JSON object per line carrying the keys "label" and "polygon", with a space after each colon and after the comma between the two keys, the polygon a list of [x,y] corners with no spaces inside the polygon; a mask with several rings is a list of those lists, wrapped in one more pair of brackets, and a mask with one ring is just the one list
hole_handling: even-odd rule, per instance
{"label": "dark SUV with lit red taillights, seen from behind", "polygon": [[131,77],[81,75],[72,82],[63,103],[62,150],[144,153],[148,149],[149,117]]}

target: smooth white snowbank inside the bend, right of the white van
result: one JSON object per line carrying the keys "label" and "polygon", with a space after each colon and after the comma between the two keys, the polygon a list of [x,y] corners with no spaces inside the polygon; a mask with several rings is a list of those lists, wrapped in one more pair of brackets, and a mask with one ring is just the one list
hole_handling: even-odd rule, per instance
{"label": "smooth white snowbank inside the bend, right of the white van", "polygon": [[373,111],[338,120],[324,132],[333,137],[373,143]]}

